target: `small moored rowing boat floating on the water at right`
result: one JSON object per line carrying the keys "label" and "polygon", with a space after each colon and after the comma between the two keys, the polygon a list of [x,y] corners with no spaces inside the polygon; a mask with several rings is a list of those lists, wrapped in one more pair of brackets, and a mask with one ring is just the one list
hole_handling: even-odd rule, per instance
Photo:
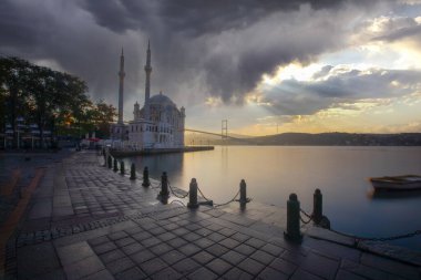
{"label": "small moored rowing boat floating on the water at right", "polygon": [[374,189],[388,190],[411,190],[421,189],[421,176],[419,175],[403,175],[403,176],[386,176],[370,178]]}

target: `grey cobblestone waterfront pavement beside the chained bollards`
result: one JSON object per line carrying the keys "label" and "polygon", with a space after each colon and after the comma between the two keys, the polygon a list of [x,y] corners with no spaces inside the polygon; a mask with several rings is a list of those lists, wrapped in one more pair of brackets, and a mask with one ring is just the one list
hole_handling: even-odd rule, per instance
{"label": "grey cobblestone waterfront pavement beside the chained bollards", "polygon": [[189,210],[161,204],[156,186],[101,167],[89,152],[49,166],[9,242],[7,278],[420,279],[420,267],[355,248],[286,242],[283,209]]}

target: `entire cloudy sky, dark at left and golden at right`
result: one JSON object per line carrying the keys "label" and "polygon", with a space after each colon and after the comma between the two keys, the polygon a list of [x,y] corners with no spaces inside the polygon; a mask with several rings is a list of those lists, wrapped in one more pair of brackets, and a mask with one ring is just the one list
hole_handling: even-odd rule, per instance
{"label": "entire cloudy sky, dark at left and golden at right", "polygon": [[421,0],[1,0],[0,55],[86,81],[124,118],[152,95],[186,126],[285,132],[421,132]]}

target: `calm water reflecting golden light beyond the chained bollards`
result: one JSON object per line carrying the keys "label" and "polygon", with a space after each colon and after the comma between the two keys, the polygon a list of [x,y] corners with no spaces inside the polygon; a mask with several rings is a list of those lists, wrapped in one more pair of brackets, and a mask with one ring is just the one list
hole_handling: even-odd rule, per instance
{"label": "calm water reflecting golden light beyond the chained bollards", "polygon": [[[296,193],[310,211],[320,188],[324,212],[333,229],[367,236],[392,236],[421,229],[421,191],[372,195],[369,177],[421,174],[421,147],[217,146],[215,151],[126,158],[151,177],[167,172],[173,186],[188,190],[196,178],[215,203],[229,200],[240,179],[254,200],[286,207]],[[421,250],[421,237],[394,241]]]}

